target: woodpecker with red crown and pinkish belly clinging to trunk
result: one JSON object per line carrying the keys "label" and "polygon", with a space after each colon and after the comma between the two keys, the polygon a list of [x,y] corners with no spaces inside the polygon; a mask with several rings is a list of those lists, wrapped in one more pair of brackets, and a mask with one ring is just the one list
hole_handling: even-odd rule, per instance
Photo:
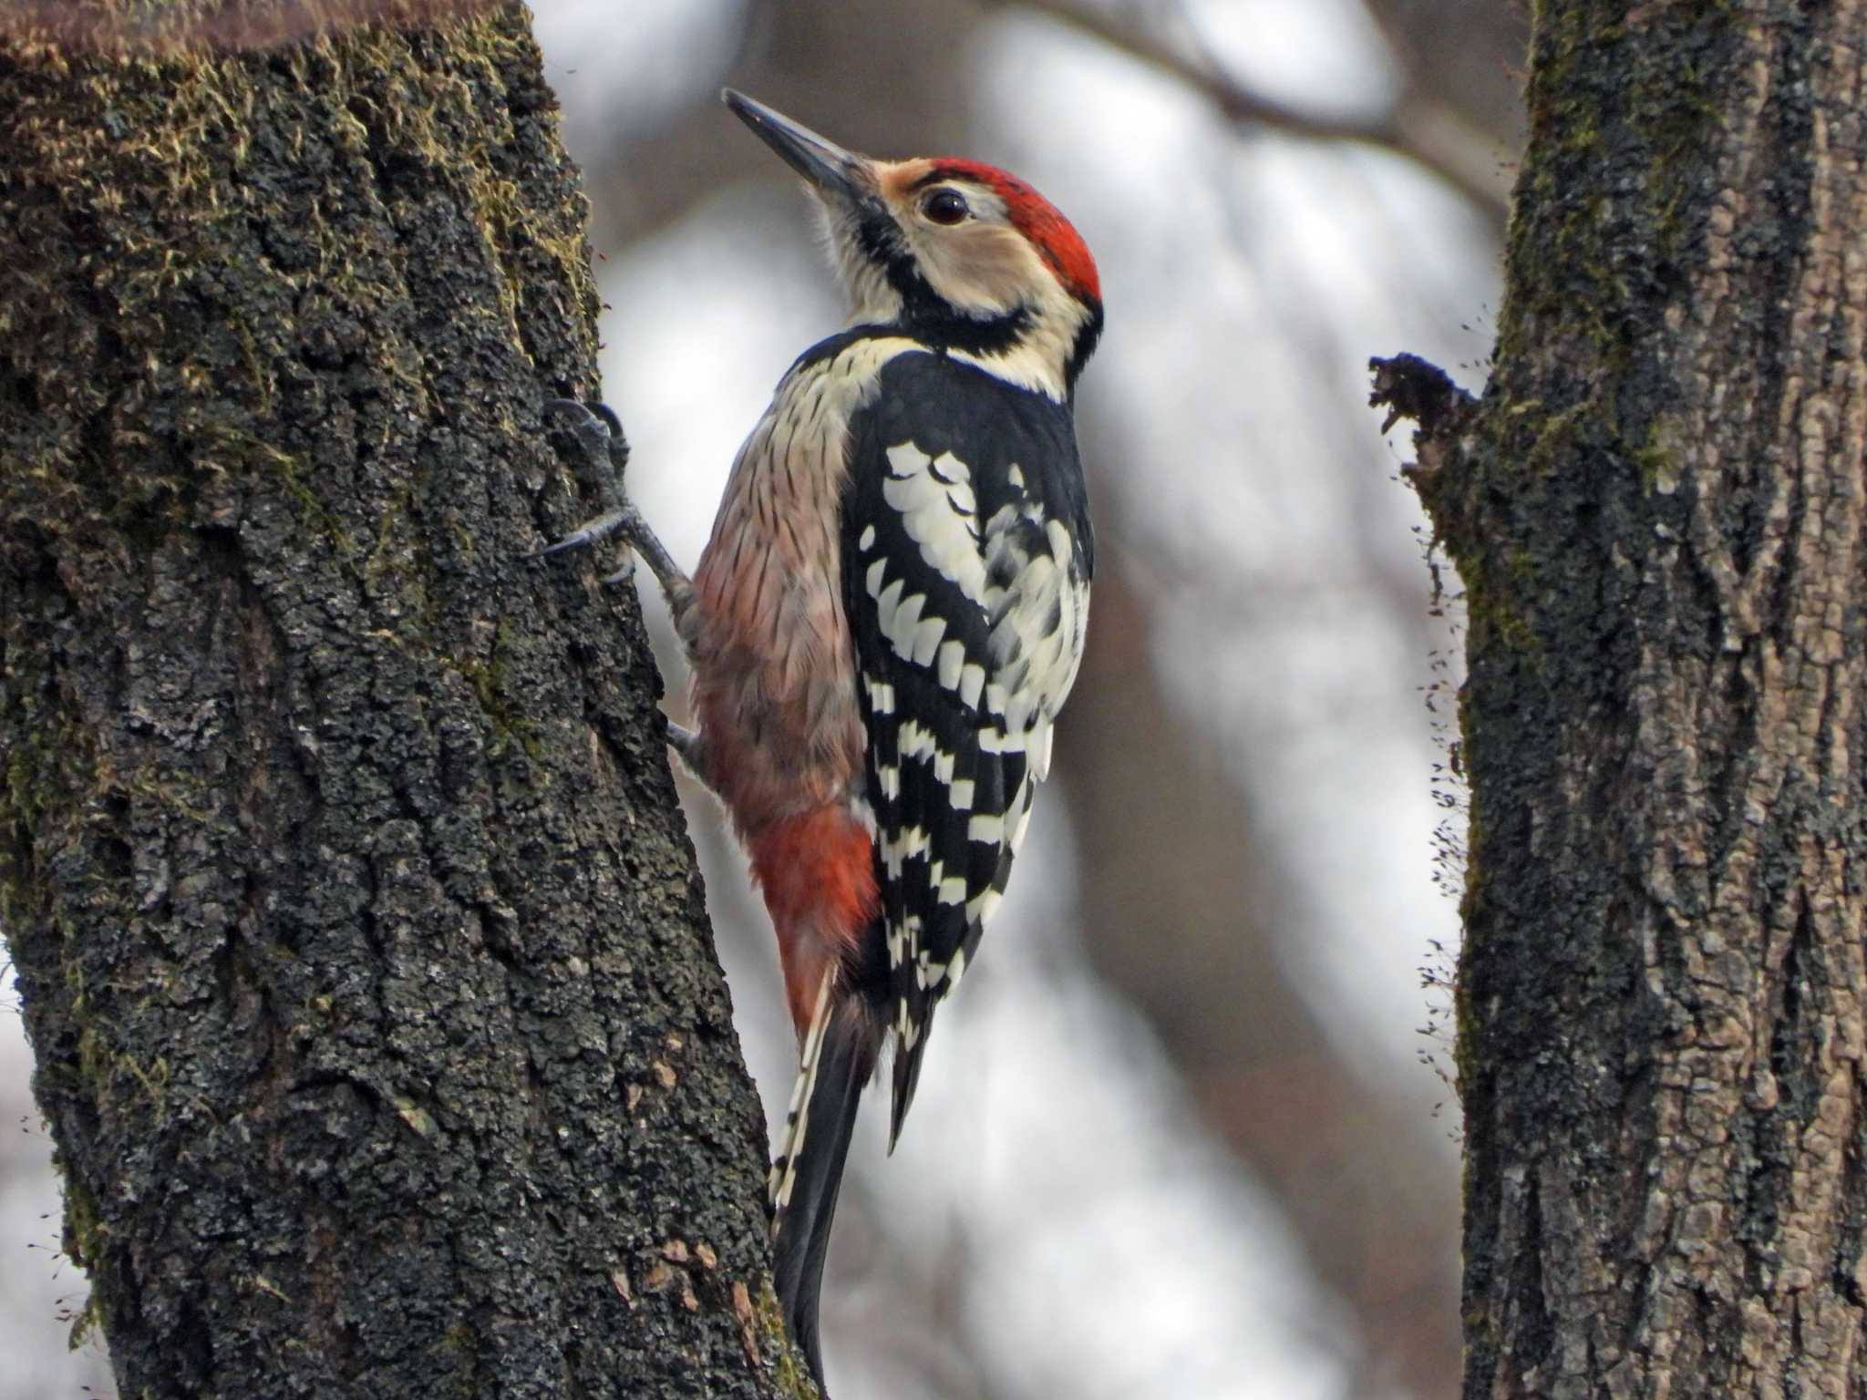
{"label": "woodpecker with red crown and pinkish belly clinging to trunk", "polygon": [[687,651],[698,730],[668,737],[751,857],[797,1029],[773,1267],[821,1387],[818,1292],[857,1099],[892,1038],[892,1150],[1083,655],[1094,538],[1074,398],[1102,293],[1083,239],[1025,181],[874,161],[724,101],[816,196],[849,319],[779,381],[691,579],[622,497],[627,448],[601,405],[556,407],[618,478],[611,510],[540,553],[620,536]]}

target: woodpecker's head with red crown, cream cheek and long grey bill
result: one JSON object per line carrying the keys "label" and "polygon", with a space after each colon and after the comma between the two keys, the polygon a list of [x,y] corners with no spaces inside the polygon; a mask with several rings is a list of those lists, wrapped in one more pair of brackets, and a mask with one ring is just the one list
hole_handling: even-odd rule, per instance
{"label": "woodpecker's head with red crown, cream cheek and long grey bill", "polygon": [[872,161],[730,88],[724,99],[823,205],[851,325],[900,325],[1070,396],[1102,334],[1102,286],[1049,200],[973,161]]}

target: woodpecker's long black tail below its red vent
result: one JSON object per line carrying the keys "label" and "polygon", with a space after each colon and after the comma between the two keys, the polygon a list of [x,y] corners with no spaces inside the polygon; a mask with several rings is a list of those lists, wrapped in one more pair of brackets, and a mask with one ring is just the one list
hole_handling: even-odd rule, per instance
{"label": "woodpecker's long black tail below its red vent", "polygon": [[[823,1387],[823,1353],[818,1346],[818,1294],[823,1288],[823,1258],[829,1254],[829,1226],[836,1215],[842,1165],[849,1155],[855,1109],[863,1086],[876,1071],[879,1051],[874,1017],[851,1002],[827,1008],[829,1027],[810,1073],[808,1098],[793,1109],[786,1127],[784,1155],[779,1159],[780,1198],[773,1238],[773,1275],[784,1322],[792,1340],[810,1363],[818,1389]],[[801,1141],[799,1141],[801,1139]]]}

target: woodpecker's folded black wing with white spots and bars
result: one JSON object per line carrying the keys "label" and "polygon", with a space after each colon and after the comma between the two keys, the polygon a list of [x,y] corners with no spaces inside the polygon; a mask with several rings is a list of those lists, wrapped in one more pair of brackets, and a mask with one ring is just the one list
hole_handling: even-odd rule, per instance
{"label": "woodpecker's folded black wing with white spots and bars", "polygon": [[896,1032],[891,1135],[1049,769],[1094,566],[1070,409],[932,353],[849,424],[844,605]]}

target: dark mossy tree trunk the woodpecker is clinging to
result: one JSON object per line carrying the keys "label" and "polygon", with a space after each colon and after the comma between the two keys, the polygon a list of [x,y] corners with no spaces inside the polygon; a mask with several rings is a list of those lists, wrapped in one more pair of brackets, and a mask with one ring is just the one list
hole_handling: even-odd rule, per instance
{"label": "dark mossy tree trunk the woodpecker is clinging to", "polygon": [[553,108],[517,6],[0,41],[0,920],[125,1396],[799,1389],[633,597],[523,558]]}

